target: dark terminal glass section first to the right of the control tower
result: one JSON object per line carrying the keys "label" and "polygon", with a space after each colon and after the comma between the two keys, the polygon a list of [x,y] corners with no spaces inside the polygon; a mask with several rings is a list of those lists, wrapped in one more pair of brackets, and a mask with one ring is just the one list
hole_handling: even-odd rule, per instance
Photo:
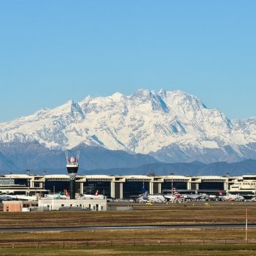
{"label": "dark terminal glass section first to the right of the control tower", "polygon": [[111,196],[111,182],[110,181],[86,181],[84,183],[84,193],[94,195],[99,191],[100,195]]}

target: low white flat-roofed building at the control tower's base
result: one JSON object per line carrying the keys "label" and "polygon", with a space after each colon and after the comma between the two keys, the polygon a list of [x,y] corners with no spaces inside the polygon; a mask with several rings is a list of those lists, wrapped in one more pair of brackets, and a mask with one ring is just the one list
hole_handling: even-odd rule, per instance
{"label": "low white flat-roofed building at the control tower's base", "polygon": [[107,199],[38,199],[38,210],[107,210]]}

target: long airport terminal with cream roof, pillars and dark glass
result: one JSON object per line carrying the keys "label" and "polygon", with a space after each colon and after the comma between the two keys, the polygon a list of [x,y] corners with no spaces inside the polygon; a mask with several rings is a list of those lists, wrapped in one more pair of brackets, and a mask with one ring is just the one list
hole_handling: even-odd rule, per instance
{"label": "long airport terminal with cream roof, pillars and dark glass", "polygon": [[[230,193],[255,194],[256,175],[244,176],[76,176],[75,193],[99,194],[107,198],[128,199],[142,193],[146,188],[150,194],[171,193],[176,188],[180,193],[209,193],[218,191]],[[68,175],[27,175],[8,174],[0,176],[0,193],[16,195],[38,195],[69,191]]]}

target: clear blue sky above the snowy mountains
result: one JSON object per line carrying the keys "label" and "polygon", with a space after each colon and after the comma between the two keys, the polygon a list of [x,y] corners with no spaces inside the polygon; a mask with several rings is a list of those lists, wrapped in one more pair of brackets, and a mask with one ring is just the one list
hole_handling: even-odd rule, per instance
{"label": "clear blue sky above the snowy mountains", "polygon": [[67,100],[183,90],[256,116],[256,1],[0,1],[0,122]]}

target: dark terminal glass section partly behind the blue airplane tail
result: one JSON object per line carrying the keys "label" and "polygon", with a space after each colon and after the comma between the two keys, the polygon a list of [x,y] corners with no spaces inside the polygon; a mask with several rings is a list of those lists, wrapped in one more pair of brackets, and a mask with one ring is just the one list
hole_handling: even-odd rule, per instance
{"label": "dark terminal glass section partly behind the blue airplane tail", "polygon": [[[143,181],[126,181],[123,183],[123,198],[139,196],[142,193]],[[149,192],[149,182],[144,182],[144,188]]]}

